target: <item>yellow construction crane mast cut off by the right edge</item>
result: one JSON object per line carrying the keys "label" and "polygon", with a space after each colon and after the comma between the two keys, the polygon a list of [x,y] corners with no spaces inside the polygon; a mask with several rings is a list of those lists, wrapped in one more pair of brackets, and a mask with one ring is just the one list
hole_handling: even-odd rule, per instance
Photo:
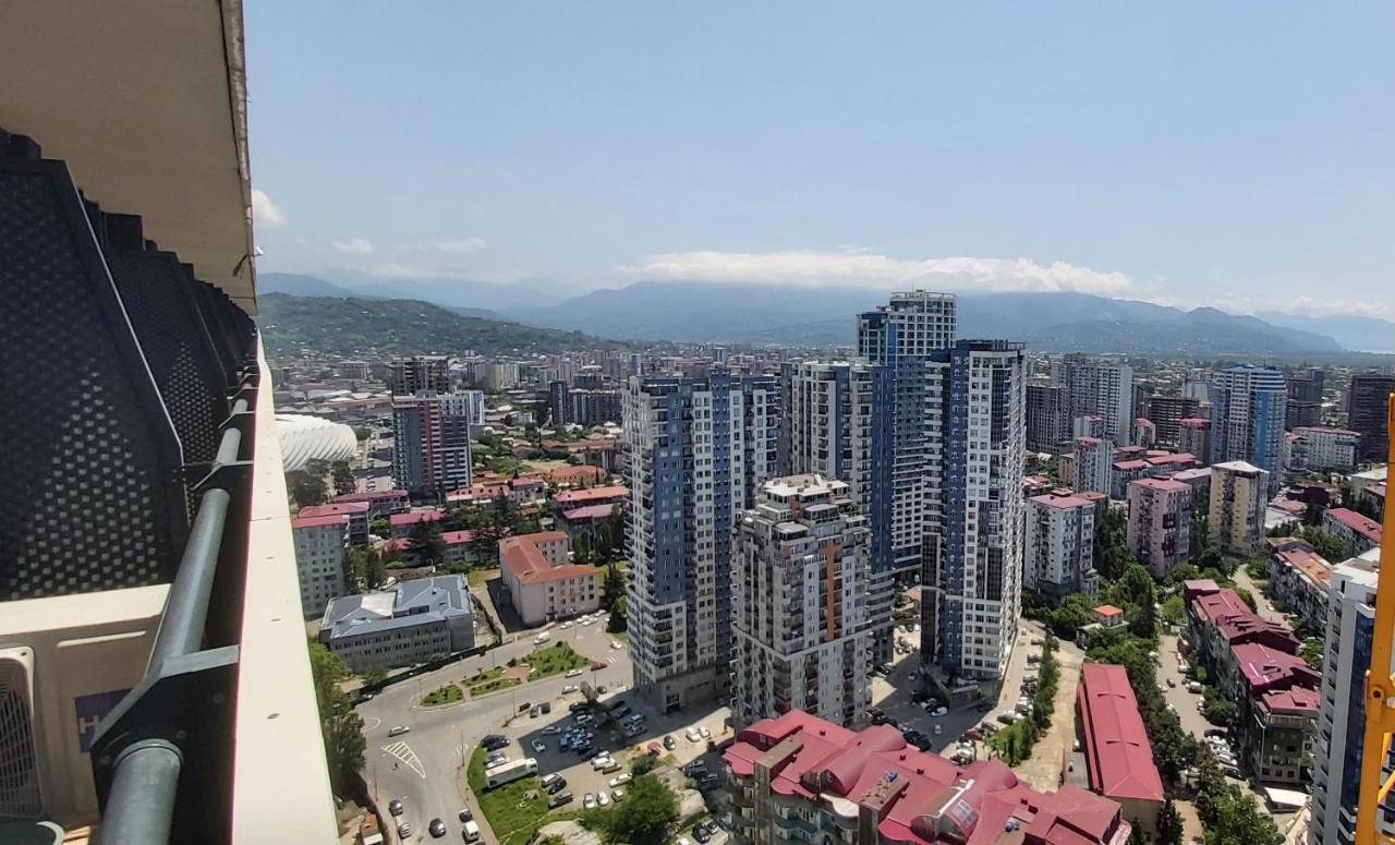
{"label": "yellow construction crane mast cut off by the right edge", "polygon": [[1380,832],[1380,807],[1395,788],[1395,774],[1385,778],[1391,736],[1395,735],[1395,673],[1391,673],[1391,652],[1395,649],[1395,578],[1385,573],[1395,570],[1395,504],[1391,503],[1388,468],[1395,465],[1395,395],[1385,404],[1385,430],[1389,440],[1387,454],[1385,514],[1381,524],[1381,567],[1375,582],[1375,623],[1371,642],[1371,665],[1366,670],[1366,740],[1362,744],[1362,782],[1356,804],[1356,845],[1395,844],[1395,838]]}

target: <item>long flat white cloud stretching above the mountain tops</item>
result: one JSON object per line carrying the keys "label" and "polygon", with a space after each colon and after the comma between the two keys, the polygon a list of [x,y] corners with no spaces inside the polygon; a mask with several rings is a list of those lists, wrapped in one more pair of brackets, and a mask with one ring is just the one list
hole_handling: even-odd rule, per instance
{"label": "long flat white cloud stretching above the mountain tops", "polygon": [[780,253],[691,251],[650,256],[622,272],[646,279],[760,282],[802,288],[932,286],[981,291],[1077,291],[1120,295],[1133,288],[1122,272],[1103,272],[1064,261],[1042,265],[1031,258],[891,258],[864,247],[844,251]]}

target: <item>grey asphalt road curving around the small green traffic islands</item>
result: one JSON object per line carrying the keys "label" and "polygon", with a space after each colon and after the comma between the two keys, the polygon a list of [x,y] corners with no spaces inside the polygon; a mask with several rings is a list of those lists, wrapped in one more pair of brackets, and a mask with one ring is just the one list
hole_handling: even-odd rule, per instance
{"label": "grey asphalt road curving around the small green traffic islands", "polygon": [[[582,677],[557,675],[449,707],[423,708],[417,704],[423,694],[445,683],[459,682],[480,669],[530,654],[536,648],[533,637],[522,635],[485,655],[393,684],[359,705],[367,739],[364,779],[382,804],[385,816],[389,800],[402,800],[405,811],[392,824],[407,821],[412,825],[407,842],[432,841],[427,832],[427,824],[432,818],[446,823],[446,837],[442,841],[460,841],[459,811],[466,804],[456,786],[456,772],[469,761],[474,746],[487,733],[498,730],[519,705],[544,700],[555,703],[561,698],[564,686],[582,680],[611,687],[629,686],[629,649],[610,648],[604,623],[566,631],[554,626],[551,631],[552,642],[571,642],[578,652],[607,662],[607,669],[586,672]],[[389,737],[388,730],[396,725],[406,725],[412,730]]]}

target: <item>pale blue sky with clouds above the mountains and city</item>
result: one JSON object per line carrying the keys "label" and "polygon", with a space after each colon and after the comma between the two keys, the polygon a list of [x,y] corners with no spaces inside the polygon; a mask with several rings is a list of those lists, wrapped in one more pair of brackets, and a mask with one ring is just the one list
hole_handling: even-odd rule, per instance
{"label": "pale blue sky with clouds above the mountains and city", "polygon": [[265,271],[1395,317],[1395,6],[272,3]]}

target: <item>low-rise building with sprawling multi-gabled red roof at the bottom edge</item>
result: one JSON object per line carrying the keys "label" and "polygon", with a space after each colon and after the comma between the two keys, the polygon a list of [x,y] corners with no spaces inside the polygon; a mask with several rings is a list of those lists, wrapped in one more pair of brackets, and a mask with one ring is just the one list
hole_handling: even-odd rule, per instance
{"label": "low-rise building with sprawling multi-gabled red roof at the bottom edge", "polygon": [[739,730],[723,761],[738,845],[1123,845],[1133,831],[1109,799],[1038,792],[1000,760],[960,768],[890,725],[852,732],[790,711]]}

